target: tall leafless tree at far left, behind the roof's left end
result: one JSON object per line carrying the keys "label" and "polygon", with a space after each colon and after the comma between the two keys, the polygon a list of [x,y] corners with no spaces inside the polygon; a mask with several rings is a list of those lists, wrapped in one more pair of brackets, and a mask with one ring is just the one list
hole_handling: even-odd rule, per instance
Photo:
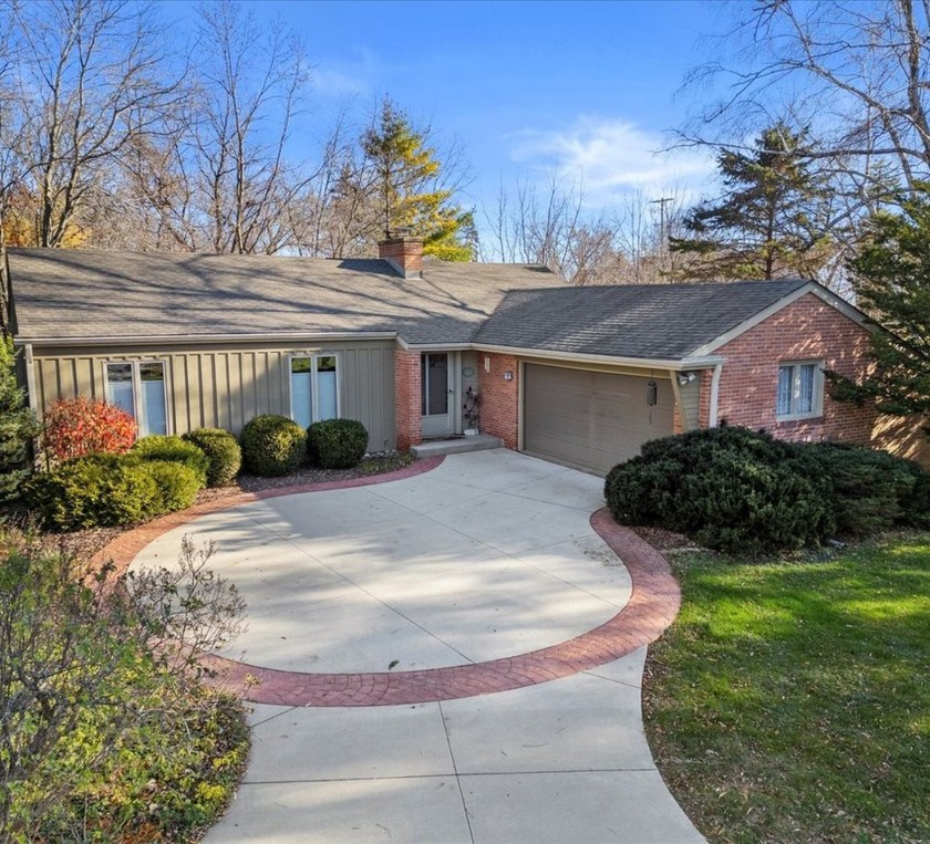
{"label": "tall leafless tree at far left, behind the roof's left end", "polygon": [[[38,246],[76,237],[80,215],[132,138],[178,90],[152,7],[128,0],[8,0],[21,113],[13,153]],[[131,115],[136,122],[131,125]]]}

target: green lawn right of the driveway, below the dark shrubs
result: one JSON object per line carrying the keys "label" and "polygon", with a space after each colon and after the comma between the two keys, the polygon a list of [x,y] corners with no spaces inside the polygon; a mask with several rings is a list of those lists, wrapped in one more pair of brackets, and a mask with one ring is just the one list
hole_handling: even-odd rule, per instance
{"label": "green lawn right of the driveway, below the dark shrubs", "polygon": [[712,842],[930,841],[930,533],[827,560],[672,558],[649,741]]}

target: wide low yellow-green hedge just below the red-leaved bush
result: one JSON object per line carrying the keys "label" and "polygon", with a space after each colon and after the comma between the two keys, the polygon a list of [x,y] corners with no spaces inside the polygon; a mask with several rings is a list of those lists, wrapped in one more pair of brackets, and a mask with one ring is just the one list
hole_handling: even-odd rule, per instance
{"label": "wide low yellow-green hedge just below the red-leaved bush", "polygon": [[32,477],[28,506],[62,531],[138,524],[189,507],[202,476],[189,466],[135,454],[86,455]]}

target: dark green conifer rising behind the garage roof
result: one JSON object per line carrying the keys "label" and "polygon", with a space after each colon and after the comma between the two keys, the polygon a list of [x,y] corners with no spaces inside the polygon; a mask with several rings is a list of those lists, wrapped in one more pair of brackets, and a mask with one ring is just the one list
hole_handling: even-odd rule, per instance
{"label": "dark green conifer rising behind the garage roof", "polygon": [[720,153],[723,195],[685,217],[691,238],[670,239],[673,252],[700,257],[683,271],[689,278],[814,278],[825,258],[816,213],[824,191],[804,159],[803,135],[779,123],[754,146],[751,155]]}

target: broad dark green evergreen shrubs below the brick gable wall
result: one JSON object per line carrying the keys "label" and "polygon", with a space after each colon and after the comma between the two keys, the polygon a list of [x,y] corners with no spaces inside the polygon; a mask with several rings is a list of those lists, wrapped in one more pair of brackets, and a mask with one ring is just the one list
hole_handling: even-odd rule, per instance
{"label": "broad dark green evergreen shrubs below the brick gable wall", "polygon": [[757,556],[930,523],[930,473],[881,451],[722,426],[652,440],[610,470],[613,518]]}

